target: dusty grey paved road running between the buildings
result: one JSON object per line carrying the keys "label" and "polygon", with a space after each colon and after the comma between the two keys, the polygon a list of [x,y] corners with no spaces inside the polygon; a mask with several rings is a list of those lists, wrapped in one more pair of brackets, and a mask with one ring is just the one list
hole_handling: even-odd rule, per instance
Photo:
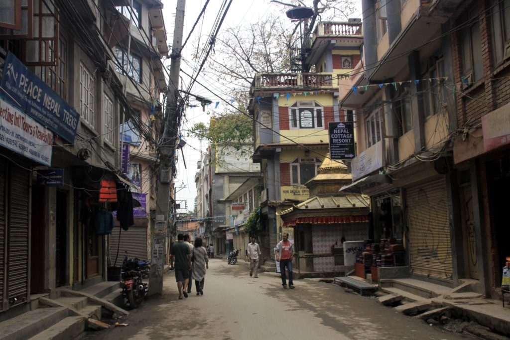
{"label": "dusty grey paved road running between the buildings", "polygon": [[164,296],[134,310],[127,327],[89,332],[93,339],[461,339],[462,335],[406,317],[374,298],[318,279],[284,290],[274,273],[249,277],[244,261],[210,261],[203,296],[177,299],[173,272]]}

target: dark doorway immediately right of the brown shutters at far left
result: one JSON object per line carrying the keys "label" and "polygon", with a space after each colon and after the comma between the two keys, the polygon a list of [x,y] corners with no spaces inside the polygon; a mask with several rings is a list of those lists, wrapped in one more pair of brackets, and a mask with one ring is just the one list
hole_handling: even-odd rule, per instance
{"label": "dark doorway immediately right of the brown shutters at far left", "polygon": [[30,294],[44,293],[45,281],[45,245],[46,245],[46,216],[45,188],[32,187],[32,226],[30,249]]}

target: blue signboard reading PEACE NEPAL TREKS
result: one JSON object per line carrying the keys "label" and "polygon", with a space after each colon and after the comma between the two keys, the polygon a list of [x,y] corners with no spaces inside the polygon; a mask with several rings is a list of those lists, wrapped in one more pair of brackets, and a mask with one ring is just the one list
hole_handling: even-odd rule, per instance
{"label": "blue signboard reading PEACE NEPAL TREKS", "polygon": [[74,143],[78,112],[11,53],[7,54],[0,86],[20,104],[22,112]]}

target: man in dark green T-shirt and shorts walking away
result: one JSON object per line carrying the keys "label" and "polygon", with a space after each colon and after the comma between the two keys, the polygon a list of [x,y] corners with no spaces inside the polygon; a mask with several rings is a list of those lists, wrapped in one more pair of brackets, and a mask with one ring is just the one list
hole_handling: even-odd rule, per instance
{"label": "man in dark green T-shirt and shorts walking away", "polygon": [[184,235],[177,235],[177,242],[173,244],[170,249],[172,254],[170,266],[175,271],[175,281],[177,282],[177,289],[179,289],[179,300],[188,297],[186,286],[189,281],[189,270],[191,269],[191,251],[190,247],[184,243]]}

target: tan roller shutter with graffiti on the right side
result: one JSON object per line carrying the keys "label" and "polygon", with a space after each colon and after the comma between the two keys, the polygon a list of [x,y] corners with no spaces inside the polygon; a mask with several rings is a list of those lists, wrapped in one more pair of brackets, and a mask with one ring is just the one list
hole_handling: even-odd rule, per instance
{"label": "tan roller shutter with graffiti on the right side", "polygon": [[412,273],[451,279],[451,236],[445,179],[407,189],[405,200]]}

